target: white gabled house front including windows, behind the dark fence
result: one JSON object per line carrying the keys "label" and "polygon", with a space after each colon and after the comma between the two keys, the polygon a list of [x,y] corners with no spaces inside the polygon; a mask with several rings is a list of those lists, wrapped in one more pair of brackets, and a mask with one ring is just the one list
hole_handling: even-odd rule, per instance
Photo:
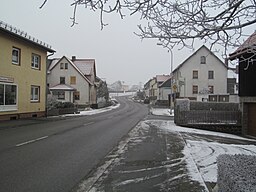
{"label": "white gabled house front including windows, behind the dark fence", "polygon": [[172,93],[175,98],[227,101],[227,70],[203,45],[172,72]]}

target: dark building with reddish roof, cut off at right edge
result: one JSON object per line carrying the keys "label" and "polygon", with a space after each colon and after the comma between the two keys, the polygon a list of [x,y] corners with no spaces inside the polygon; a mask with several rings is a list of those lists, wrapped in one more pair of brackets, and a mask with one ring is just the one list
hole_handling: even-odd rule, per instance
{"label": "dark building with reddish roof, cut off at right edge", "polygon": [[256,33],[253,33],[230,60],[238,60],[238,95],[242,109],[242,134],[256,137]]}

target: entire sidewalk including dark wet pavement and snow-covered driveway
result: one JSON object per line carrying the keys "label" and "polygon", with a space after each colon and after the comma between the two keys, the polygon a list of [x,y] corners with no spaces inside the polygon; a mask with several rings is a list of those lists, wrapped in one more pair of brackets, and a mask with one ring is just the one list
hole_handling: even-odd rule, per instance
{"label": "entire sidewalk including dark wet pavement and snow-covered driveway", "polygon": [[141,121],[73,191],[211,192],[220,154],[256,155],[256,140],[155,117]]}

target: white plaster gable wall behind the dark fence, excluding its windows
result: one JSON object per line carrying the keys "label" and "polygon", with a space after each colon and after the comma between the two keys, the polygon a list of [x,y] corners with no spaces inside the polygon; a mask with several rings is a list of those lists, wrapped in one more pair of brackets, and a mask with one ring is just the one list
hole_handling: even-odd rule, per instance
{"label": "white plaster gable wall behind the dark fence, excluding its windows", "polygon": [[[206,64],[200,63],[201,56],[206,57]],[[198,79],[193,79],[193,71],[198,71]],[[208,79],[208,71],[214,71],[214,79]],[[180,97],[196,98],[198,94],[193,94],[193,85],[198,86],[198,92],[214,86],[214,94],[227,93],[227,68],[204,47],[175,72],[174,78]]]}

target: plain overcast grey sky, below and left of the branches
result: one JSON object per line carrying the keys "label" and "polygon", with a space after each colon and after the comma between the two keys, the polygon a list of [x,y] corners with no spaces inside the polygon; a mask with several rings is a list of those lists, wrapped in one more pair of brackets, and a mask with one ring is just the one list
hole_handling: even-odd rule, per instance
{"label": "plain overcast grey sky, below and left of the branches", "polygon": [[[79,7],[78,25],[71,27],[72,0],[48,0],[43,9],[39,9],[43,0],[1,2],[0,20],[50,44],[56,50],[54,57],[94,58],[97,75],[107,83],[144,84],[155,75],[170,73],[167,49],[154,39],[141,41],[134,35],[140,23],[137,17],[107,16],[109,25],[101,30],[99,14]],[[174,68],[191,54],[189,49],[174,49]]]}

